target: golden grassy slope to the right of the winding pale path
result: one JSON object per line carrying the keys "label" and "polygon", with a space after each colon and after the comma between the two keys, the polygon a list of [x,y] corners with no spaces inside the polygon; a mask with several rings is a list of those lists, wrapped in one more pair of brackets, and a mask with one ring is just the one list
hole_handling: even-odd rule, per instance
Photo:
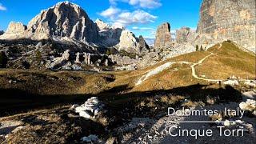
{"label": "golden grassy slope to the right of the winding pale path", "polygon": [[215,55],[197,66],[198,75],[207,78],[226,79],[232,75],[240,78],[255,78],[255,54],[247,53],[231,42],[223,42],[222,48],[210,48]]}

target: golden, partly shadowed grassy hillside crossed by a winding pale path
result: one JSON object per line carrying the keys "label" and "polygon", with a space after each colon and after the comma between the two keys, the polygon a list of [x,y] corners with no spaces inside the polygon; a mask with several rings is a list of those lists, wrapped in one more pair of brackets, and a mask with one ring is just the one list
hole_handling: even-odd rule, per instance
{"label": "golden, partly shadowed grassy hillside crossed by a winding pale path", "polygon": [[[150,118],[149,122],[145,120],[146,126],[150,122],[159,126],[154,121],[166,115],[168,106],[241,102],[243,91],[255,90],[245,84],[255,79],[254,70],[255,55],[233,42],[222,42],[206,51],[183,54],[134,71],[1,70],[0,110],[2,116],[10,116],[0,118],[0,122],[23,127],[8,138],[0,137],[0,142],[78,142],[89,134],[98,134],[103,141],[120,137],[116,141],[134,142],[135,136],[126,138],[134,129],[122,127],[134,118]],[[233,75],[240,77],[236,79],[239,84],[224,84]],[[74,117],[70,106],[91,97],[98,97],[106,110],[92,121]],[[49,135],[41,138],[46,130],[50,130]],[[54,130],[65,137],[53,137]],[[126,131],[118,135],[119,130]]]}

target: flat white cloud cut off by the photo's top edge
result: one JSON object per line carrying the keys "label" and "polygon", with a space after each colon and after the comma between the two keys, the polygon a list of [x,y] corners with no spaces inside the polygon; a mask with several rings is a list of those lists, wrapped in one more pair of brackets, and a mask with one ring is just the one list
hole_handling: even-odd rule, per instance
{"label": "flat white cloud cut off by the photo's top edge", "polygon": [[116,2],[126,2],[131,6],[139,6],[147,9],[154,9],[162,6],[160,0],[109,0],[111,5],[116,5]]}

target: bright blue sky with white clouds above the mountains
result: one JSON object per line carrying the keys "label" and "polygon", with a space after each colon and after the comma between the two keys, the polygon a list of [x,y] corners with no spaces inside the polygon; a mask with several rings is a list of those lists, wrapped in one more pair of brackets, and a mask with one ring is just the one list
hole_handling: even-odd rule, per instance
{"label": "bright blue sky with white clouds above the mountains", "polygon": [[[0,0],[0,30],[9,22],[27,25],[31,18],[60,0]],[[82,6],[95,21],[125,26],[138,37],[154,38],[162,22],[170,22],[171,30],[182,26],[196,28],[202,0],[70,0]]]}

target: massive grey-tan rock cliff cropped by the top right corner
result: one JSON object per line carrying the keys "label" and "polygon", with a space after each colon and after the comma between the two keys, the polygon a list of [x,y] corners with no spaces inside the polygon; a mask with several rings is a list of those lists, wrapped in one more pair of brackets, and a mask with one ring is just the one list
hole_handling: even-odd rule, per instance
{"label": "massive grey-tan rock cliff cropped by the top right corner", "polygon": [[255,50],[255,11],[255,0],[203,0],[197,30],[205,38],[201,42],[229,39]]}

